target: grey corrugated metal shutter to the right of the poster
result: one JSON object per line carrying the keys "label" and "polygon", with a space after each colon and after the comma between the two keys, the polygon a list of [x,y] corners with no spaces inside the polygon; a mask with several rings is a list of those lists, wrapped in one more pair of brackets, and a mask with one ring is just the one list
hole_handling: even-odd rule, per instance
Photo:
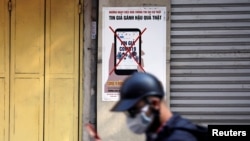
{"label": "grey corrugated metal shutter to the right of the poster", "polygon": [[171,11],[171,109],[249,124],[250,0],[172,0]]}

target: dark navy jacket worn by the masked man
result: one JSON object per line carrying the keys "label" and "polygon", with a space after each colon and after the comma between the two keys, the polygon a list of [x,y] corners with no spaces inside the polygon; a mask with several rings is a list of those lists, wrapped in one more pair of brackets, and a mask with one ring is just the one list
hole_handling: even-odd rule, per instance
{"label": "dark navy jacket worn by the masked man", "polygon": [[[190,131],[199,131],[196,124],[182,118],[174,113],[168,122],[156,134],[146,134],[147,141],[198,141],[198,138]],[[202,126],[203,127],[203,126]],[[207,128],[202,128],[202,132],[207,132]],[[205,130],[205,131],[204,131]]]}

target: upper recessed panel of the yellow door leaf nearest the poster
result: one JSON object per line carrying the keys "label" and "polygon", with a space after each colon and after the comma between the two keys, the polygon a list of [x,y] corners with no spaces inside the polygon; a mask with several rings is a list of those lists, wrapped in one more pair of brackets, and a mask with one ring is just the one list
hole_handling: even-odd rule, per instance
{"label": "upper recessed panel of the yellow door leaf nearest the poster", "polygon": [[78,36],[77,1],[53,0],[50,2],[48,21],[50,25],[50,72],[51,74],[74,74],[76,40]]}

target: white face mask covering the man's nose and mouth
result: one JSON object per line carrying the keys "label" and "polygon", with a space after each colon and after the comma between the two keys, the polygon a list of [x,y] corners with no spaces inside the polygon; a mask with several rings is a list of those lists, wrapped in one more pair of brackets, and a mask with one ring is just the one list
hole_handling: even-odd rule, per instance
{"label": "white face mask covering the man's nose and mouth", "polygon": [[136,134],[144,133],[149,125],[153,121],[153,115],[148,117],[146,112],[149,109],[149,105],[144,106],[141,109],[141,112],[138,113],[134,118],[127,116],[127,126],[130,130],[132,130]]}

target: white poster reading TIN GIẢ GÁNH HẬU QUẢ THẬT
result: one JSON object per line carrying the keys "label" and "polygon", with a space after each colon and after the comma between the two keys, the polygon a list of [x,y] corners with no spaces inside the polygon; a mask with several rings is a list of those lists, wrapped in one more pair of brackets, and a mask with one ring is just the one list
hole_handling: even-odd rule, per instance
{"label": "white poster reading TIN GI\u1ea2 G\u00c1NH H\u1eacU QU\u1ea2 TH\u1eacT", "polygon": [[134,72],[154,74],[165,86],[166,7],[104,7],[102,12],[102,100],[119,100],[121,84]]}

